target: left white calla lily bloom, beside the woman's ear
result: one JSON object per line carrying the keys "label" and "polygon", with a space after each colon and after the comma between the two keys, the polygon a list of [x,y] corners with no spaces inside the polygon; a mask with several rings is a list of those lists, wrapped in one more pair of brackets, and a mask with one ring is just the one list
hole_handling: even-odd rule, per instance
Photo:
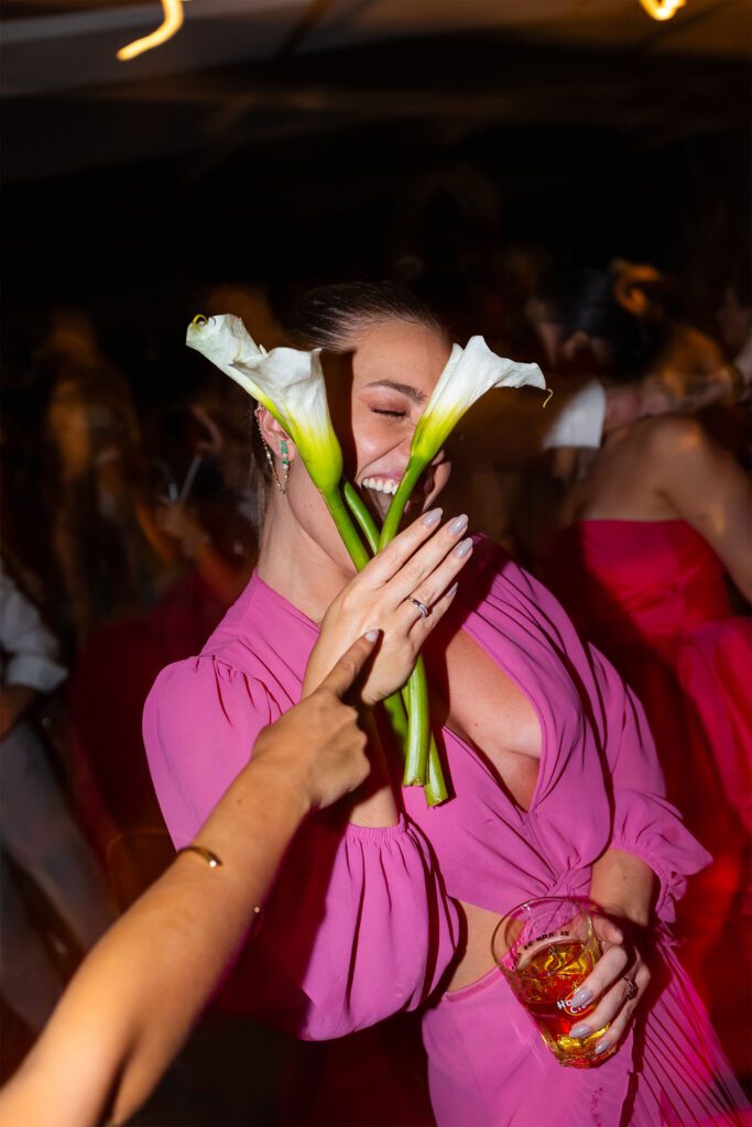
{"label": "left white calla lily bloom, beside the woman's ear", "polygon": [[211,360],[257,399],[284,427],[322,494],[337,489],[342,449],[331,426],[321,350],[273,348],[267,353],[238,317],[196,318],[186,336],[189,348]]}

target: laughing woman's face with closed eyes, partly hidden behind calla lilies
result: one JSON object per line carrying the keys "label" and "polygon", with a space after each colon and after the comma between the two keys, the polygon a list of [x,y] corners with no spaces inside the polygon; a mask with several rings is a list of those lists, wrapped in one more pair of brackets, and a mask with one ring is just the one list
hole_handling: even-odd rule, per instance
{"label": "laughing woman's face with closed eyes, partly hidden behind calla lilies", "polygon": [[[339,360],[348,367],[351,411],[348,419],[337,417],[339,397],[329,388],[334,426],[343,445],[345,474],[381,522],[407,469],[413,433],[449,360],[450,345],[423,325],[383,321],[353,336],[345,348]],[[306,532],[339,561],[344,549],[338,534],[302,469],[291,468],[291,508]],[[450,471],[451,464],[439,453],[416,486],[406,509],[409,518],[432,506]]]}

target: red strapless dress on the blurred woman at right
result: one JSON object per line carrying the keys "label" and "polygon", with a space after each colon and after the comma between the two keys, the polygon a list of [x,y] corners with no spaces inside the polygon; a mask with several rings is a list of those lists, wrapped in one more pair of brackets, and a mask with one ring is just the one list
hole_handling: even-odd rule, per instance
{"label": "red strapless dress on the blurred woman at right", "polygon": [[714,857],[690,881],[678,934],[749,1072],[752,619],[732,614],[722,560],[684,521],[572,524],[554,541],[550,583],[639,696],[669,798]]}

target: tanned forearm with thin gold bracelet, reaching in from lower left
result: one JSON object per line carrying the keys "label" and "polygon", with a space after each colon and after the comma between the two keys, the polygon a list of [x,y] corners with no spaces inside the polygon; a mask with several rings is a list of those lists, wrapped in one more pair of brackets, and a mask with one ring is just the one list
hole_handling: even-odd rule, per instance
{"label": "tanned forearm with thin gold bracelet, reaching in from lower left", "polygon": [[280,786],[260,763],[246,769],[196,837],[222,866],[179,857],[104,937],[0,1097],[0,1120],[89,1127],[133,1115],[185,1040],[306,813],[299,788]]}

